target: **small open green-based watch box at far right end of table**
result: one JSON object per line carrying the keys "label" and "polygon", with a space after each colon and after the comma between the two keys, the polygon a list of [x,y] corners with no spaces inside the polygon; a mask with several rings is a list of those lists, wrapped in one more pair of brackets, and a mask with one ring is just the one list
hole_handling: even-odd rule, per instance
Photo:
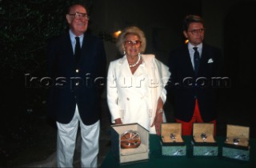
{"label": "small open green-based watch box at far right end of table", "polygon": [[222,147],[222,156],[243,161],[250,160],[250,127],[226,125],[226,141]]}

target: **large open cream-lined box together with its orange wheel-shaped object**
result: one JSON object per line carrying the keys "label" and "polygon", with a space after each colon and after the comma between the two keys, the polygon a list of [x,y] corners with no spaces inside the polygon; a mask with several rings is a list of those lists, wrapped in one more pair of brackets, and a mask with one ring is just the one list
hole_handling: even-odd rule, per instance
{"label": "large open cream-lined box together with its orange wheel-shaped object", "polygon": [[149,158],[149,131],[138,123],[111,126],[111,152],[119,163]]}

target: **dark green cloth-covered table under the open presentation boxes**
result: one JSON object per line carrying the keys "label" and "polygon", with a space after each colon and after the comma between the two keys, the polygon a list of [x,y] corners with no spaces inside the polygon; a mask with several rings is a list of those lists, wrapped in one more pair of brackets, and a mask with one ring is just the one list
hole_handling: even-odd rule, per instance
{"label": "dark green cloth-covered table under the open presentation boxes", "polygon": [[183,137],[186,143],[186,156],[162,156],[160,137],[157,135],[150,135],[150,159],[142,162],[132,162],[120,165],[113,157],[111,151],[106,155],[100,167],[130,167],[130,168],[256,168],[256,139],[250,139],[250,161],[240,161],[231,158],[222,157],[222,147],[225,137],[217,137],[218,142],[218,156],[203,157],[193,156],[191,154],[192,147],[190,146],[191,136]]}

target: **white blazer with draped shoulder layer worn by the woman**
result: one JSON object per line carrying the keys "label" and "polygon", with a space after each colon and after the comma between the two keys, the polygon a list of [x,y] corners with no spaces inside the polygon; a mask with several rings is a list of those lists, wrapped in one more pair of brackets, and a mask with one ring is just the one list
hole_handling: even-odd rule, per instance
{"label": "white blazer with draped shoulder layer worn by the woman", "polygon": [[[111,121],[121,118],[122,123],[139,123],[155,134],[154,122],[158,98],[166,101],[169,68],[152,54],[142,54],[143,63],[131,73],[126,56],[111,61],[107,75],[107,103]],[[165,115],[164,121],[166,122]]]}

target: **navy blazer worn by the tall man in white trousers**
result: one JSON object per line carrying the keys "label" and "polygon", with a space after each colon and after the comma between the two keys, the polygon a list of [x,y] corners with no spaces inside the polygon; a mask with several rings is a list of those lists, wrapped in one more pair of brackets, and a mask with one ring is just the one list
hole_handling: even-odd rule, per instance
{"label": "navy blazer worn by the tall man in white trousers", "polygon": [[106,78],[106,54],[103,41],[85,33],[81,59],[75,64],[70,34],[66,32],[50,39],[47,48],[50,87],[50,116],[59,123],[69,123],[76,104],[82,122],[86,125],[98,121],[100,96]]}

